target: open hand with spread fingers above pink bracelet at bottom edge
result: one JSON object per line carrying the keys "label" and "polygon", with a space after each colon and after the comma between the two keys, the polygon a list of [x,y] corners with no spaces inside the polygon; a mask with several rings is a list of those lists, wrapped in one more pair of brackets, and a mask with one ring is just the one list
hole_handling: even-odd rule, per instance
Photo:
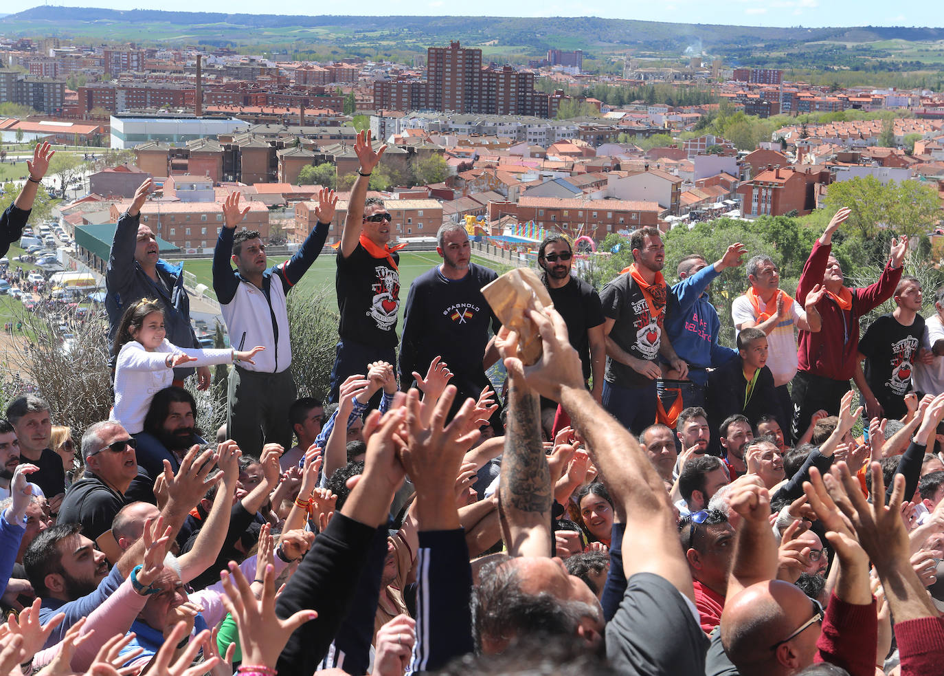
{"label": "open hand with spread fingers above pink bracelet at bottom edge", "polygon": [[[259,575],[258,571],[256,575]],[[227,592],[226,596],[221,598],[239,629],[244,665],[274,669],[278,653],[285,648],[289,636],[298,627],[318,616],[313,610],[303,610],[288,619],[279,619],[276,615],[275,577],[273,566],[266,565],[262,571],[261,598],[257,600],[236,563],[230,562],[229,571],[220,575],[223,588]]]}

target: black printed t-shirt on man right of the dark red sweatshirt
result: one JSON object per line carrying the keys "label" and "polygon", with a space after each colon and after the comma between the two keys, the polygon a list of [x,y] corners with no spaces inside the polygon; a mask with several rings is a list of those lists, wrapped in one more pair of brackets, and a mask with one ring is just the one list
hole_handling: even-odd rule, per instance
{"label": "black printed t-shirt on man right of the dark red sweatshirt", "polygon": [[911,390],[911,373],[923,337],[920,315],[911,326],[902,326],[889,314],[873,321],[859,340],[859,352],[866,355],[866,382],[889,420],[907,412],[904,395]]}

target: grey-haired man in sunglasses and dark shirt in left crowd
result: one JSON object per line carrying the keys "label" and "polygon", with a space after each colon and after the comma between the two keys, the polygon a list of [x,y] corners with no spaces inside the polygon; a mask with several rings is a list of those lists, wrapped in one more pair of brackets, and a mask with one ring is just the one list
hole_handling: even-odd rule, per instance
{"label": "grey-haired man in sunglasses and dark shirt in left crowd", "polygon": [[85,475],[66,491],[60,524],[81,524],[82,534],[91,540],[111,528],[115,514],[125,506],[128,486],[138,476],[135,445],[117,423],[89,427],[81,443]]}

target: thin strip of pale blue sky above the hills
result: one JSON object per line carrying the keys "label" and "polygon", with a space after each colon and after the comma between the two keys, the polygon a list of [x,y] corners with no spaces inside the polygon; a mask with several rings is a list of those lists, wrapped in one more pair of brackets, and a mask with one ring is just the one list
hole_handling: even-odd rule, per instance
{"label": "thin strip of pale blue sky above the hills", "polygon": [[[3,12],[35,7],[37,0],[6,0]],[[177,9],[279,14],[346,13],[368,16],[391,14],[468,14],[470,5],[454,0],[362,0],[358,3],[312,5],[305,0],[282,0],[265,6],[254,0],[164,0],[159,6],[127,0],[52,0],[50,5],[111,9]],[[663,0],[636,3],[626,0],[479,0],[478,16],[601,16],[614,19],[676,21],[739,26],[941,26],[940,3],[912,0],[901,5],[884,0]]]}

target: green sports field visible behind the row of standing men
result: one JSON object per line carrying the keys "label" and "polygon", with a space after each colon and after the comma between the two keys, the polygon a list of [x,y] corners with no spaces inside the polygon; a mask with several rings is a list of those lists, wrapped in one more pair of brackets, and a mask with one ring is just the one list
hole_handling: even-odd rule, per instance
{"label": "green sports field visible behind the row of standing men", "polygon": [[[268,262],[269,265],[275,265],[277,263],[281,263],[284,260],[284,257],[271,256]],[[314,262],[314,265],[312,265],[312,268],[305,273],[305,276],[302,278],[302,281],[298,284],[293,293],[300,292],[303,294],[309,294],[319,291],[329,294],[331,298],[335,298],[334,261],[334,255],[322,254],[319,256]],[[478,256],[472,256],[472,261],[487,268],[494,269],[499,273],[507,269],[501,266],[501,264],[479,258]],[[175,260],[172,262],[176,264],[180,261]],[[442,259],[435,251],[413,251],[409,253],[400,251],[399,271],[401,326],[403,320],[403,309],[407,300],[407,293],[410,290],[410,285],[413,284],[413,280],[433,266],[439,265],[441,262]],[[196,277],[197,284],[205,284],[210,288],[213,287],[211,259],[190,259],[184,261],[183,264],[183,269],[191,272],[194,277]]]}

